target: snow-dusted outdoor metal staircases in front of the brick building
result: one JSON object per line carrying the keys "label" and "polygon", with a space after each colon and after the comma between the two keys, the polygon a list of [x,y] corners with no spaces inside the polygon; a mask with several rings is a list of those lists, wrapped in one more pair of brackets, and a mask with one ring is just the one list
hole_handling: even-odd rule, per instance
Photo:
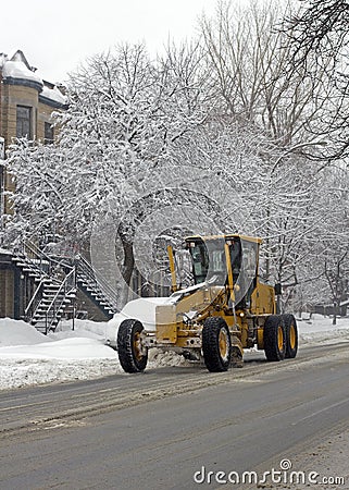
{"label": "snow-dusted outdoor metal staircases in front of the brick building", "polygon": [[51,256],[26,242],[12,260],[36,284],[24,319],[42,333],[54,331],[64,315],[75,317],[78,287],[108,318],[117,311],[115,292],[102,278],[97,279],[92,266],[83,257]]}

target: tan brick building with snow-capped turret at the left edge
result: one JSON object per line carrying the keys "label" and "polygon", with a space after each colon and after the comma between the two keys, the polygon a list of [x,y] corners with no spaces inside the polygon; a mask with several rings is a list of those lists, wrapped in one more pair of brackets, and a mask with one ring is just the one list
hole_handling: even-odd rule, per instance
{"label": "tan brick building with snow-capped turret at the left edge", "polygon": [[[0,228],[11,212],[5,191],[14,183],[3,166],[5,151],[17,137],[50,144],[54,139],[52,112],[64,110],[66,100],[60,88],[42,79],[29,65],[22,51],[12,58],[0,53]],[[1,244],[0,244],[1,247]],[[23,274],[11,253],[0,248],[0,317],[20,318],[25,297]]]}

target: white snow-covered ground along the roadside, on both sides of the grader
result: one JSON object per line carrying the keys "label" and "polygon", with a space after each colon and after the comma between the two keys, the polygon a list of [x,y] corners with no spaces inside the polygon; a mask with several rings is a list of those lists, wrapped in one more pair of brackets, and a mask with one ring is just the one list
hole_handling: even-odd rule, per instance
{"label": "white snow-covered ground along the roadside, on both sides of the grader", "polygon": [[[112,322],[76,320],[74,331],[72,322],[64,322],[46,336],[24,321],[0,319],[0,390],[123,373],[117,353],[105,345]],[[300,346],[349,342],[349,318],[333,327],[331,318],[315,315],[298,327]],[[174,353],[149,356],[149,368],[182,363]]]}

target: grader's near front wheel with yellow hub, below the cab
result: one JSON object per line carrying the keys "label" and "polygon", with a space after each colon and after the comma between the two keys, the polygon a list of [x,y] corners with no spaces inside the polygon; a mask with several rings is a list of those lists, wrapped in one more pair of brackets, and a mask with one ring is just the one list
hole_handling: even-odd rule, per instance
{"label": "grader's near front wheel with yellow hub, below the cab", "polygon": [[202,328],[202,354],[211,372],[226,371],[230,364],[232,340],[229,329],[221,317],[209,317]]}

